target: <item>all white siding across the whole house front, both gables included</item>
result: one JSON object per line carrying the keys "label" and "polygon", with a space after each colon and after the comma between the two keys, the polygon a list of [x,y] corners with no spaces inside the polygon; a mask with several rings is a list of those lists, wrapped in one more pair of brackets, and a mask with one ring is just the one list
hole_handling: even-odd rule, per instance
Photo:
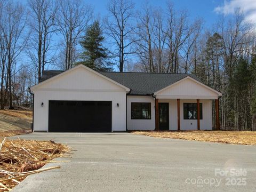
{"label": "all white siding across the whole house front, both gables included", "polygon": [[[111,101],[112,131],[155,130],[155,99],[146,95],[127,95],[128,87],[109,79],[96,71],[82,65],[54,76],[31,87],[34,92],[34,131],[48,131],[49,101]],[[177,130],[177,99],[180,99],[181,130],[196,130],[196,119],[183,119],[183,103],[203,103],[202,130],[212,129],[212,100],[218,99],[221,93],[203,85],[191,77],[165,87],[154,93],[158,102],[169,103],[169,129]],[[132,119],[132,102],[150,102],[150,119]],[[43,107],[41,103],[44,103]],[[117,103],[119,107],[117,107]],[[127,105],[127,113],[126,113]]]}

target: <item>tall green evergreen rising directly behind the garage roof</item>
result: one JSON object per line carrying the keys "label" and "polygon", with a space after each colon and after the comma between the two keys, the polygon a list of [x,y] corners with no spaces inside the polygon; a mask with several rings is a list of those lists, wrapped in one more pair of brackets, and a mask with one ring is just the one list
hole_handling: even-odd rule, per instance
{"label": "tall green evergreen rising directly behind the garage roof", "polygon": [[99,21],[94,21],[87,28],[85,36],[80,42],[84,51],[81,54],[82,61],[77,64],[83,64],[97,71],[113,70],[113,64],[108,60],[108,50],[102,45],[104,39]]}

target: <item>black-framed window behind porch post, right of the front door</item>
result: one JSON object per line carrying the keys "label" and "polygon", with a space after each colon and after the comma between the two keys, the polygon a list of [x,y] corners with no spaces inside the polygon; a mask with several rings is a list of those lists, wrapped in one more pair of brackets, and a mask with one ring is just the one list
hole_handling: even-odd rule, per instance
{"label": "black-framed window behind porch post, right of the front door", "polygon": [[[203,104],[200,103],[200,119],[203,119]],[[184,119],[197,119],[197,103],[183,103]]]}

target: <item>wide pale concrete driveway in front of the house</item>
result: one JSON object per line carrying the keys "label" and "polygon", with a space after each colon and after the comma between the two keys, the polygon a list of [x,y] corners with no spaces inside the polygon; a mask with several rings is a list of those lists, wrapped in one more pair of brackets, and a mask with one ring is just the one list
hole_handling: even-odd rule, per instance
{"label": "wide pale concrete driveway in front of the house", "polygon": [[[33,133],[76,151],[61,169],[28,176],[17,191],[255,191],[256,146],[130,133]],[[67,159],[65,159],[67,160]]]}

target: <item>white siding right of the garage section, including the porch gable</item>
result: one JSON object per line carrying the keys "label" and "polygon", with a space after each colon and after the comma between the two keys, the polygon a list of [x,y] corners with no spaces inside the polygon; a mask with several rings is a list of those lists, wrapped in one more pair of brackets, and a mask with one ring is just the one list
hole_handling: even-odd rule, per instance
{"label": "white siding right of the garage section, including the porch gable", "polygon": [[[169,130],[178,130],[177,99],[180,99],[180,129],[197,130],[197,119],[184,119],[183,103],[202,103],[203,119],[201,130],[212,130],[212,100],[218,99],[221,93],[207,87],[191,77],[186,77],[155,93],[158,103],[169,103]],[[132,102],[151,102],[151,119],[131,119]],[[127,96],[127,129],[155,130],[155,100],[151,96]]]}

